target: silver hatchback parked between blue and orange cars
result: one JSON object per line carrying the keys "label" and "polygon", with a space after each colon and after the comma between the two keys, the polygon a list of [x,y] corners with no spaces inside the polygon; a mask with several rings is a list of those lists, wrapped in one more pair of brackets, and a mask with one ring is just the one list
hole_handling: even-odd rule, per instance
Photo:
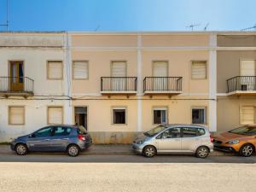
{"label": "silver hatchback parked between blue and orange cars", "polygon": [[213,151],[210,132],[200,125],[159,125],[144,132],[132,148],[146,157],[155,154],[189,153],[206,158]]}

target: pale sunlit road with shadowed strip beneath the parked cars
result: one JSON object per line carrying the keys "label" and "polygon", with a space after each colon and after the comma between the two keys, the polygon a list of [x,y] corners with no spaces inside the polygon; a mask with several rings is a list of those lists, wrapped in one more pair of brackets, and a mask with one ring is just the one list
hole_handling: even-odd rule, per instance
{"label": "pale sunlit road with shadowed strip beneath the parked cars", "polygon": [[[81,155],[79,158],[70,159],[63,154],[32,154],[24,157],[23,161],[26,162],[0,162],[0,191],[256,191],[255,161],[247,164],[224,163],[229,160],[218,157],[220,160],[217,161],[222,163],[201,163],[201,160],[194,157],[159,156],[149,161],[139,160],[139,163],[123,163],[137,158],[140,159],[136,155]],[[46,163],[50,159],[55,159],[58,163]],[[250,159],[255,160],[255,157]],[[34,162],[28,162],[29,160]],[[74,163],[79,160],[83,163]],[[105,162],[93,163],[93,160]],[[156,163],[157,160],[165,163]],[[194,160],[197,163],[191,163]],[[168,161],[172,163],[167,163]]]}

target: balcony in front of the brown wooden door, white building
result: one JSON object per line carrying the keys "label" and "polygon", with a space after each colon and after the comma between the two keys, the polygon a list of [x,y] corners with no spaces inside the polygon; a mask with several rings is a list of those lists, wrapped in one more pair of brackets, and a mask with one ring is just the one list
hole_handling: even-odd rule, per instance
{"label": "balcony in front of the brown wooden door, white building", "polygon": [[1,96],[33,96],[34,80],[26,77],[0,77]]}

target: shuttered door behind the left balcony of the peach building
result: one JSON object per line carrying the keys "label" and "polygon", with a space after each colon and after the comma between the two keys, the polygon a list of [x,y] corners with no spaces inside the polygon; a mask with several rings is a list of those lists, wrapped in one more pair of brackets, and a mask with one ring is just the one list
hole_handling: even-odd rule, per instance
{"label": "shuttered door behind the left balcony of the peach building", "polygon": [[111,90],[120,91],[126,90],[126,62],[113,61],[111,67]]}

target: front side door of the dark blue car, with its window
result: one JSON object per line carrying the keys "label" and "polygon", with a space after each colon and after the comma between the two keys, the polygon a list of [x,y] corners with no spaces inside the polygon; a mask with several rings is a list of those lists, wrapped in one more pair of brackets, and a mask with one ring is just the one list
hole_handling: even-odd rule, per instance
{"label": "front side door of the dark blue car, with its window", "polygon": [[51,138],[53,136],[53,127],[44,127],[32,134],[27,140],[27,146],[31,151],[52,151]]}

